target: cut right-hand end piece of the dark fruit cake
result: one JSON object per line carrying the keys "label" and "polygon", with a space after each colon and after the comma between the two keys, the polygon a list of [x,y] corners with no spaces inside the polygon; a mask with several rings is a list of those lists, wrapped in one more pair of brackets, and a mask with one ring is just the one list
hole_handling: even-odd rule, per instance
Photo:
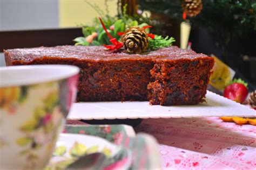
{"label": "cut right-hand end piece of the dark fruit cake", "polygon": [[[195,57],[196,56],[196,57]],[[204,102],[214,61],[203,54],[184,54],[182,59],[156,59],[147,86],[151,104],[191,105]]]}

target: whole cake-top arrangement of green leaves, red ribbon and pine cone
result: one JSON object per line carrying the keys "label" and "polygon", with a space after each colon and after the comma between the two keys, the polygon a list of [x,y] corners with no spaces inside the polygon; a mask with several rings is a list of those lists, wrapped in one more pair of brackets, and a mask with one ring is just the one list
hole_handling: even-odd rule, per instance
{"label": "whole cake-top arrangement of green leaves, red ribbon and pine cone", "polygon": [[84,37],[74,39],[75,45],[104,45],[110,50],[124,47],[130,54],[139,54],[172,45],[175,41],[173,37],[163,38],[149,33],[152,26],[142,23],[140,21],[142,18],[135,20],[127,16],[126,6],[120,17],[104,16],[99,20],[96,18],[92,26],[84,26],[82,28]]}

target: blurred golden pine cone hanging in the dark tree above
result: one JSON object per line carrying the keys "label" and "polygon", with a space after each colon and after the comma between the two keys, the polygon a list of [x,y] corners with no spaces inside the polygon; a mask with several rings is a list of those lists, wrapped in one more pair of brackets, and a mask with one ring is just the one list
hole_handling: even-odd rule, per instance
{"label": "blurred golden pine cone hanging in the dark tree above", "polygon": [[201,0],[183,0],[181,6],[183,11],[190,17],[197,16],[203,9]]}

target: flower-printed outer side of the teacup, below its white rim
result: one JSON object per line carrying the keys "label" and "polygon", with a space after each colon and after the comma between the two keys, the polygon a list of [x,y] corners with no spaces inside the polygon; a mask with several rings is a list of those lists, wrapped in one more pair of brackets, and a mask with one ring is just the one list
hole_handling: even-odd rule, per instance
{"label": "flower-printed outer side of the teacup, below its white rim", "polygon": [[[0,128],[6,131],[0,133],[1,157],[10,149],[11,157],[18,158],[17,165],[23,165],[19,169],[41,169],[47,164],[70,101],[76,96],[76,83],[70,81],[76,81],[77,76],[73,77],[73,80],[0,88]],[[11,128],[10,123],[14,124]],[[11,160],[2,161],[0,168],[17,168],[11,165]]]}

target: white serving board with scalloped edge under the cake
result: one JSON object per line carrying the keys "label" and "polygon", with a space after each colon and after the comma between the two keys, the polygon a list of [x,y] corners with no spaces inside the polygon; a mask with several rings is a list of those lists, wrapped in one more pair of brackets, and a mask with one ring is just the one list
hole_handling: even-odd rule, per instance
{"label": "white serving board with scalloped edge under the cake", "polygon": [[182,106],[150,105],[149,102],[80,102],[74,103],[68,119],[137,119],[203,116],[256,116],[256,111],[207,91],[207,103]]}

